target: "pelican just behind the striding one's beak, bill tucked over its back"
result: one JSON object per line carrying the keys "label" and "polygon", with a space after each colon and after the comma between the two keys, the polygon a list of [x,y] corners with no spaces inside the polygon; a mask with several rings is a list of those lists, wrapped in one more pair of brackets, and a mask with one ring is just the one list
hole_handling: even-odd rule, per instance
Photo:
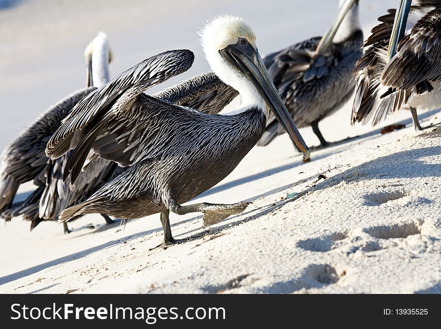
{"label": "pelican just behind the striding one's beak, bill tucked over its back", "polygon": [[[299,128],[311,126],[321,146],[318,123],[348,101],[354,91],[353,69],[362,54],[358,0],[340,0],[339,12],[323,36],[304,40],[268,55],[264,63]],[[258,145],[284,132],[274,116]]]}

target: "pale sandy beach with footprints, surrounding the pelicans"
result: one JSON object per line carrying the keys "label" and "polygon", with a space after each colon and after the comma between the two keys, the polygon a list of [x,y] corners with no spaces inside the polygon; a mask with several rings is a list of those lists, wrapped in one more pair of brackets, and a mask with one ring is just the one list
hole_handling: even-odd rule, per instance
{"label": "pale sandy beach with footprints, surrounding the pelicans", "polygon": [[[169,15],[180,24],[182,5],[170,1],[128,2],[125,8],[105,2],[97,17],[82,8],[96,14],[102,1],[93,7],[28,1],[0,11],[8,46],[0,49],[6,58],[0,63],[0,146],[82,87],[82,49],[98,30],[109,35],[113,75],[159,51],[189,48],[196,61],[183,79],[207,70],[195,34],[203,18],[244,16],[266,54],[321,34],[334,2],[323,0],[312,16],[300,1],[263,2],[263,9],[251,1],[193,1],[178,28],[160,21]],[[395,0],[362,1],[365,31],[394,6]],[[330,141],[360,137],[313,151],[309,163],[302,163],[286,135],[254,148],[197,199],[252,201],[247,210],[210,228],[201,227],[200,216],[172,214],[174,236],[190,241],[166,250],[148,251],[162,240],[158,215],[131,221],[124,231],[89,215],[70,223],[75,230],[68,235],[51,222],[33,232],[19,219],[2,225],[0,292],[440,293],[441,128],[416,133],[409,113],[401,111],[384,125],[404,120],[407,128],[380,135],[381,127],[351,127],[349,113],[346,106],[324,120],[322,132]],[[423,126],[441,121],[436,111],[421,118]],[[317,144],[310,129],[301,132],[308,144]],[[319,174],[328,178],[314,185]],[[84,228],[89,223],[95,228]]]}

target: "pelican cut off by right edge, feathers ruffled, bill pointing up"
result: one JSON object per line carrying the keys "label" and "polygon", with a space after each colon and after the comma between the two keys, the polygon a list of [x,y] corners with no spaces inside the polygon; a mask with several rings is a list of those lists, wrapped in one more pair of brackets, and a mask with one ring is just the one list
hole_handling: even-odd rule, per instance
{"label": "pelican cut off by right edge, feathers ruffled, bill pointing up", "polygon": [[[408,106],[415,130],[421,130],[417,110],[441,105],[439,33],[441,1],[400,2],[388,10],[366,40],[358,61],[351,122],[372,125]],[[394,20],[395,17],[395,20]]]}

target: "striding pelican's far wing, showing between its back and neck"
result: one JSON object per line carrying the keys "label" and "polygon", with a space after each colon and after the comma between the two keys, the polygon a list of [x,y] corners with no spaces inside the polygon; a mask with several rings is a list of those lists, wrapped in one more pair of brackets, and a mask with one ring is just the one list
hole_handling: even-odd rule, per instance
{"label": "striding pelican's far wing, showing between its back and neck", "polygon": [[203,113],[217,114],[238,95],[233,87],[222,82],[213,72],[208,72],[152,96]]}

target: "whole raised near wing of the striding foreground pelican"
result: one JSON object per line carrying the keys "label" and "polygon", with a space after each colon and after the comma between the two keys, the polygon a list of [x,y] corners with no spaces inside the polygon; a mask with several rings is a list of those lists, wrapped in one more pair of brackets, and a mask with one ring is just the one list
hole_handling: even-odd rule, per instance
{"label": "whole raised near wing of the striding foreground pelican", "polygon": [[[125,71],[79,102],[63,120],[61,127],[49,140],[46,148],[46,154],[52,159],[62,156],[70,149],[75,149],[69,158],[63,179],[66,179],[69,172],[72,172],[71,182],[76,180],[90,149],[96,140],[98,142],[99,133],[104,127],[117,133],[125,130],[123,125],[126,121],[132,121],[135,125],[132,127],[133,131],[126,131],[123,137],[126,137],[125,140],[132,148],[136,146],[139,142],[136,138],[139,136],[137,133],[140,128],[136,127],[136,120],[142,114],[132,112],[133,103],[142,102],[147,97],[143,94],[146,89],[188,70],[193,60],[194,55],[189,50],[161,53]],[[110,122],[116,123],[117,120],[112,120],[115,117],[120,118],[121,121],[117,122],[117,126],[110,125]],[[104,137],[109,136],[106,133]],[[116,137],[115,134],[112,136],[110,133],[110,138],[114,137]],[[105,144],[106,141],[104,141]],[[128,155],[127,152],[123,152],[124,149],[121,149],[123,145],[118,146],[114,143],[111,145],[114,150],[108,148],[107,154],[118,152],[118,154]],[[116,162],[127,166],[131,161],[133,159],[124,158]]]}

